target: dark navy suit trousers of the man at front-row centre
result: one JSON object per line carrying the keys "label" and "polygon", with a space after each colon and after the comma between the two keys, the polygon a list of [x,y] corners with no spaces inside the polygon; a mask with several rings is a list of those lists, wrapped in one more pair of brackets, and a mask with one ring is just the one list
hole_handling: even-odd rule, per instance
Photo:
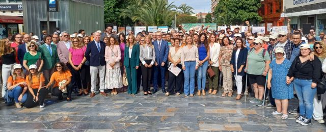
{"label": "dark navy suit trousers of the man at front-row centre", "polygon": [[[161,74],[160,77],[158,76],[158,73]],[[154,90],[157,90],[158,88],[157,82],[159,79],[161,80],[161,88],[165,89],[165,66],[162,67],[161,64],[158,64],[158,66],[154,66],[154,78],[153,78]]]}

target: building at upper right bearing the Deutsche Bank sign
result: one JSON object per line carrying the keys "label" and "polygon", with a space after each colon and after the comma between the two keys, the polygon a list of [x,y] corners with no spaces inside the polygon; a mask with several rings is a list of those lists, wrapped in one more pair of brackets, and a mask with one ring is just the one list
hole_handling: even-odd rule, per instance
{"label": "building at upper right bearing the Deutsche Bank sign", "polygon": [[326,0],[284,1],[284,6],[292,29],[302,29],[304,34],[314,29],[316,35],[326,31]]}

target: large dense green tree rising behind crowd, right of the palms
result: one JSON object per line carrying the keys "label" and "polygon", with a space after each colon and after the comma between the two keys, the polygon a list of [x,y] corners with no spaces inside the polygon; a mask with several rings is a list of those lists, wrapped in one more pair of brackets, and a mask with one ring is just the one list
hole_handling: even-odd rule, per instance
{"label": "large dense green tree rising behind crowd, right of the palms", "polygon": [[219,25],[223,24],[221,17],[228,25],[241,24],[246,20],[260,22],[262,20],[262,17],[258,15],[260,7],[259,0],[221,0],[215,7],[214,16]]}

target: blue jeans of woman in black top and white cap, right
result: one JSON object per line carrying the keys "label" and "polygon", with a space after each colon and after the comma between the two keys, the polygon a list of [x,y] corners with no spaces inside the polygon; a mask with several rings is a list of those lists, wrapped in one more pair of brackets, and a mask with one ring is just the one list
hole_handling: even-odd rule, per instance
{"label": "blue jeans of woman in black top and white cap, right", "polygon": [[294,78],[293,84],[296,95],[299,99],[300,115],[306,116],[307,119],[312,118],[314,107],[312,101],[317,92],[316,88],[311,88],[312,80],[301,80]]}

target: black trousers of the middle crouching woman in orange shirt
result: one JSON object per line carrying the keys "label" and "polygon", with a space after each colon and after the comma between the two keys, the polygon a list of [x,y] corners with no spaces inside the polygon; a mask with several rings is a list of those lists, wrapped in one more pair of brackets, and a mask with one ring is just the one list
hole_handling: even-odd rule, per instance
{"label": "black trousers of the middle crouching woman in orange shirt", "polygon": [[[34,95],[36,96],[37,95],[37,91],[39,89],[33,89],[33,92],[34,92]],[[39,91],[39,95],[38,95],[38,98],[39,100],[34,102],[34,97],[33,95],[31,94],[31,92],[29,92],[29,95],[27,96],[27,100],[24,104],[24,107],[26,108],[33,108],[33,107],[36,107],[37,105],[42,105],[44,103],[44,99],[45,99],[45,96],[47,94],[47,89],[46,88],[41,88],[40,91]]]}

